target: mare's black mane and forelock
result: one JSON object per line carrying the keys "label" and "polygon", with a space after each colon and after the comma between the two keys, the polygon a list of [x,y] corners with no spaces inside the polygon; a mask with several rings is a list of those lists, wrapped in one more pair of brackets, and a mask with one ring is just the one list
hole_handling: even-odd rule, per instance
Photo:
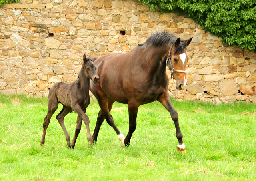
{"label": "mare's black mane and forelock", "polygon": [[[177,40],[178,36],[176,34],[169,33],[168,31],[164,32],[156,32],[155,34],[152,34],[146,42],[138,44],[138,46],[163,46],[165,44],[174,44]],[[186,48],[185,44],[181,40],[179,46],[175,48],[175,54],[180,54],[183,52],[183,50]]]}

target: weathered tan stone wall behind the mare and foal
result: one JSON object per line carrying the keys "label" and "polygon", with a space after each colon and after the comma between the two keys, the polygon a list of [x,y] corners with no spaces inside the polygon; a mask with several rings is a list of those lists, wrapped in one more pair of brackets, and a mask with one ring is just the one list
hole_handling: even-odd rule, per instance
{"label": "weathered tan stone wall behind the mare and foal", "polygon": [[256,101],[255,52],[224,46],[186,16],[160,14],[134,0],[21,0],[0,6],[0,91],[47,96],[55,82],[76,80],[83,54],[128,52],[156,30],[193,37],[188,86],[176,90],[170,78],[172,97]]}

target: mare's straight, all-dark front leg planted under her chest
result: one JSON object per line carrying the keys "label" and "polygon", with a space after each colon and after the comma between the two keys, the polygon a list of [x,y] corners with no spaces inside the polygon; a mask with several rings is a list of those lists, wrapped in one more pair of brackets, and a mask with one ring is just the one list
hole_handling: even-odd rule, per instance
{"label": "mare's straight, all-dark front leg planted under her chest", "polygon": [[124,139],[124,144],[126,146],[130,145],[132,133],[134,133],[137,125],[137,114],[138,114],[138,103],[137,102],[128,102],[128,111],[129,111],[129,132]]}

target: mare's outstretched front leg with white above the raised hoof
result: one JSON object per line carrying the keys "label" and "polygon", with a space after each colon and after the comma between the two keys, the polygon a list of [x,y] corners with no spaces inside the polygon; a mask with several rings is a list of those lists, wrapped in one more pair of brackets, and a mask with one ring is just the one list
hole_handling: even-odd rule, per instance
{"label": "mare's outstretched front leg with white above the raised hoof", "polygon": [[180,125],[179,125],[179,117],[177,111],[172,106],[172,102],[168,93],[168,90],[165,91],[163,95],[158,97],[157,99],[162,105],[170,112],[170,115],[172,117],[172,120],[174,121],[175,129],[176,129],[176,137],[179,141],[179,144],[177,145],[177,151],[180,151],[181,153],[186,153],[185,145],[182,141],[182,133],[180,131]]}

